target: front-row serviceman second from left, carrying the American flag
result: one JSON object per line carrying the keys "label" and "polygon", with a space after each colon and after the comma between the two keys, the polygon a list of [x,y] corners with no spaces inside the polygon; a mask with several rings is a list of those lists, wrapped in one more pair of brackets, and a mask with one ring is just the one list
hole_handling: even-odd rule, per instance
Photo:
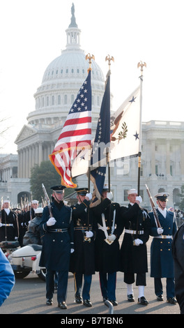
{"label": "front-row serviceman second from left, carrying the American flag", "polygon": [[84,306],[92,306],[90,289],[92,275],[95,274],[95,223],[93,212],[89,209],[92,195],[88,193],[88,188],[77,188],[75,191],[77,191],[78,199],[77,204],[72,207],[75,252],[70,258],[70,271],[74,274],[75,302],[83,303]]}

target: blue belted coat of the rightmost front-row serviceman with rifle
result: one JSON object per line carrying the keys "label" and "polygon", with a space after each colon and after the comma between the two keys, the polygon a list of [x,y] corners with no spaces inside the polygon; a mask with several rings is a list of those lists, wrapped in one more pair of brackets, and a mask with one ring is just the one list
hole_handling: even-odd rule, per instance
{"label": "blue belted coat of the rightmost front-row serviceman with rifle", "polygon": [[[164,218],[157,209],[160,225],[164,232],[162,235],[170,235],[170,239],[153,238],[151,243],[151,277],[155,278],[174,278],[174,261],[171,251],[172,237],[177,231],[176,216],[174,212],[167,211],[167,216]],[[151,217],[151,236],[157,237],[157,226],[153,212]]]}

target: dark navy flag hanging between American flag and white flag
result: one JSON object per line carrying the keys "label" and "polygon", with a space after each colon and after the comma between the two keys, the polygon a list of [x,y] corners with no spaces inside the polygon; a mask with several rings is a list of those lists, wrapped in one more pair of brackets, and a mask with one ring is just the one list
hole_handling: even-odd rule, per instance
{"label": "dark navy flag hanging between American flag and white flag", "polygon": [[[108,73],[105,93],[102,99],[98,125],[93,142],[91,153],[91,181],[95,188],[98,199],[102,194],[102,189],[106,175],[107,148],[110,145],[110,74]],[[95,167],[95,168],[94,168]]]}

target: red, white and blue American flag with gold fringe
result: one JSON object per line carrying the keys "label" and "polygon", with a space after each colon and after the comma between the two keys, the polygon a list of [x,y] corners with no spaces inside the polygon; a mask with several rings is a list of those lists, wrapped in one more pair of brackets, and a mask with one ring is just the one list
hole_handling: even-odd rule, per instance
{"label": "red, white and blue American flag with gold fringe", "polygon": [[91,70],[79,89],[49,159],[61,175],[61,184],[76,188],[71,167],[79,151],[91,147]]}

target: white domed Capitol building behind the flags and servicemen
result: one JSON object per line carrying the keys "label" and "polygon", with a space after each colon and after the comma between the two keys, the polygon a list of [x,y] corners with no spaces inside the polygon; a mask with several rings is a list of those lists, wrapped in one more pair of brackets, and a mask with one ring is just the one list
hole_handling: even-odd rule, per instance
{"label": "white domed Capitol building behind the flags and servicemen", "polygon": [[[81,49],[80,35],[72,5],[72,17],[66,29],[66,49],[45,69],[35,98],[35,110],[29,112],[27,124],[17,135],[17,155],[0,155],[0,196],[12,204],[30,195],[30,175],[34,165],[49,161],[56,140],[77,93],[87,76],[89,62]],[[105,91],[105,77],[92,60],[92,135],[95,136],[100,105]],[[111,110],[113,111],[111,95]],[[127,190],[137,188],[138,158],[111,163],[111,184],[114,201],[127,204]],[[59,176],[59,181],[61,181]],[[44,181],[43,181],[44,182]],[[60,183],[60,182],[59,182]],[[87,186],[86,175],[77,178],[79,186]],[[184,121],[142,122],[140,194],[143,206],[150,209],[145,184],[155,195],[170,194],[168,207],[178,208],[179,193],[184,184]],[[91,190],[92,190],[91,186]]]}

